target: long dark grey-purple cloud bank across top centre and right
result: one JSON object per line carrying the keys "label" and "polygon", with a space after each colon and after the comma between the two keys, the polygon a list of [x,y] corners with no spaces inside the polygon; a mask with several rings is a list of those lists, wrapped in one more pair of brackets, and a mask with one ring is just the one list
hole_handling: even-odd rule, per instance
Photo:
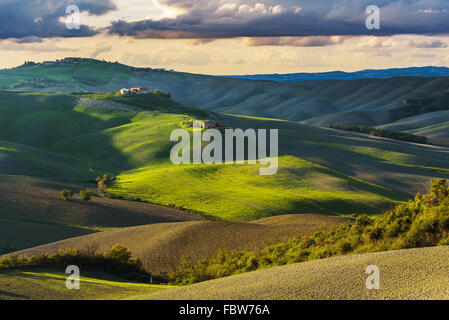
{"label": "long dark grey-purple cloud bank across top centre and right", "polygon": [[[447,0],[159,0],[176,18],[116,21],[109,32],[136,38],[233,38],[449,33]],[[367,30],[368,5],[381,29]]]}

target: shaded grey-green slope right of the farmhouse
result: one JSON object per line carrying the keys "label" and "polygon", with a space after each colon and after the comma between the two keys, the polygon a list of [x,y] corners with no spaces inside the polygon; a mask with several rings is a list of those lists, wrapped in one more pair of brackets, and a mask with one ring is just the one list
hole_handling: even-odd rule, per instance
{"label": "shaded grey-green slope right of the farmhouse", "polygon": [[[350,133],[338,133],[322,128],[305,126],[288,121],[252,119],[236,115],[221,115],[221,121],[233,128],[263,128],[279,130],[279,156],[294,156],[326,167],[323,173],[348,180],[348,187],[403,201],[417,192],[427,191],[428,181],[449,174],[432,172],[424,168],[376,159],[347,150],[336,150],[321,143],[347,144],[354,147],[386,148],[419,158],[438,160],[443,168],[449,168],[445,153],[425,146],[409,145],[399,141],[368,140],[368,137],[352,137]],[[447,154],[447,153],[446,153]],[[327,171],[327,172],[326,172]]]}

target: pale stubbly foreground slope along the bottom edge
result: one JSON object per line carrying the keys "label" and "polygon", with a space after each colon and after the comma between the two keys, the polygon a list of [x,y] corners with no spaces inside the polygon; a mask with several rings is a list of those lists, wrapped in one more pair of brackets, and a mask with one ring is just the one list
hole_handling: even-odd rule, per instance
{"label": "pale stubbly foreground slope along the bottom edge", "polygon": [[[415,300],[447,299],[448,247],[349,255],[205,281],[184,287],[132,283],[84,272],[82,290],[66,290],[55,268],[0,272],[1,299],[134,300]],[[380,289],[368,290],[365,270],[380,270]],[[429,277],[429,274],[432,277]]]}

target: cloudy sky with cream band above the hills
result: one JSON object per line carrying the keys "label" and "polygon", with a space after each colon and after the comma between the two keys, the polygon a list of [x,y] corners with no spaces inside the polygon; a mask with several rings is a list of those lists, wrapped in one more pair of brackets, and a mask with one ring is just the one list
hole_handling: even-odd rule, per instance
{"label": "cloudy sky with cream band above the hills", "polygon": [[448,46],[448,0],[0,0],[0,68],[67,56],[216,75],[449,67]]}

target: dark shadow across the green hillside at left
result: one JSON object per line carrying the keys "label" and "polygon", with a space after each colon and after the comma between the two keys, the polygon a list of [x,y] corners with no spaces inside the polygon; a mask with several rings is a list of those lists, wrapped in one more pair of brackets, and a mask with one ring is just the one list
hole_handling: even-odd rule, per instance
{"label": "dark shadow across the green hillside at left", "polygon": [[[31,176],[79,181],[76,174],[64,172],[59,165],[64,163],[64,155],[79,160],[67,164],[75,172],[85,170],[93,179],[99,173],[114,174],[134,168],[129,156],[114,145],[113,136],[106,131],[131,123],[135,113],[114,113],[114,110],[107,113],[101,108],[99,115],[95,110],[90,114],[81,112],[75,110],[79,97],[81,95],[66,93],[1,94],[0,139],[55,152],[53,162],[59,171],[47,173],[48,162],[34,161],[30,165],[35,170],[28,170]],[[39,152],[34,150],[37,149],[32,152]],[[90,171],[89,162],[95,173]],[[21,163],[23,166],[23,161],[17,161],[15,166],[20,167]]]}

